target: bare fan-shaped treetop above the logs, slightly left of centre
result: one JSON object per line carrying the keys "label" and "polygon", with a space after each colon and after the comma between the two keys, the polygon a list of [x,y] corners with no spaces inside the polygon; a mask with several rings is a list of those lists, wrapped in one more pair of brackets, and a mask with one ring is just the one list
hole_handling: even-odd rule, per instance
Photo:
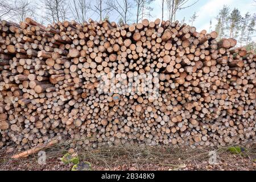
{"label": "bare fan-shaped treetop above the logs, slightly left of centre", "polygon": [[107,1],[108,0],[96,0],[96,5],[90,6],[90,9],[100,16],[100,20],[108,16],[110,11],[113,10],[113,7],[109,6]]}

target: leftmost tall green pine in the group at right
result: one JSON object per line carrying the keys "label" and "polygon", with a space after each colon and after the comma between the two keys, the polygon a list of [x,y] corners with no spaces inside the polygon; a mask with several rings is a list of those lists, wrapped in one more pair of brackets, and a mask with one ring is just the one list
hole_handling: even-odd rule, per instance
{"label": "leftmost tall green pine in the group at right", "polygon": [[224,5],[216,18],[218,23],[216,24],[215,31],[218,33],[219,40],[224,38],[224,36],[226,35],[225,30],[228,24],[228,15],[229,15],[229,7]]}

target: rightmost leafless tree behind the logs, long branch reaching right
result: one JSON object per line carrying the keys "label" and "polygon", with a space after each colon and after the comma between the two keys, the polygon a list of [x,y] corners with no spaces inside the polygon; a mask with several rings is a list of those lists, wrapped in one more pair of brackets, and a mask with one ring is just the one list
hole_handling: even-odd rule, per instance
{"label": "rightmost leafless tree behind the logs, long branch reaching right", "polygon": [[193,2],[190,5],[187,5],[189,0],[166,0],[167,9],[169,13],[169,20],[172,22],[175,20],[176,13],[179,10],[187,9],[195,5],[199,0]]}

